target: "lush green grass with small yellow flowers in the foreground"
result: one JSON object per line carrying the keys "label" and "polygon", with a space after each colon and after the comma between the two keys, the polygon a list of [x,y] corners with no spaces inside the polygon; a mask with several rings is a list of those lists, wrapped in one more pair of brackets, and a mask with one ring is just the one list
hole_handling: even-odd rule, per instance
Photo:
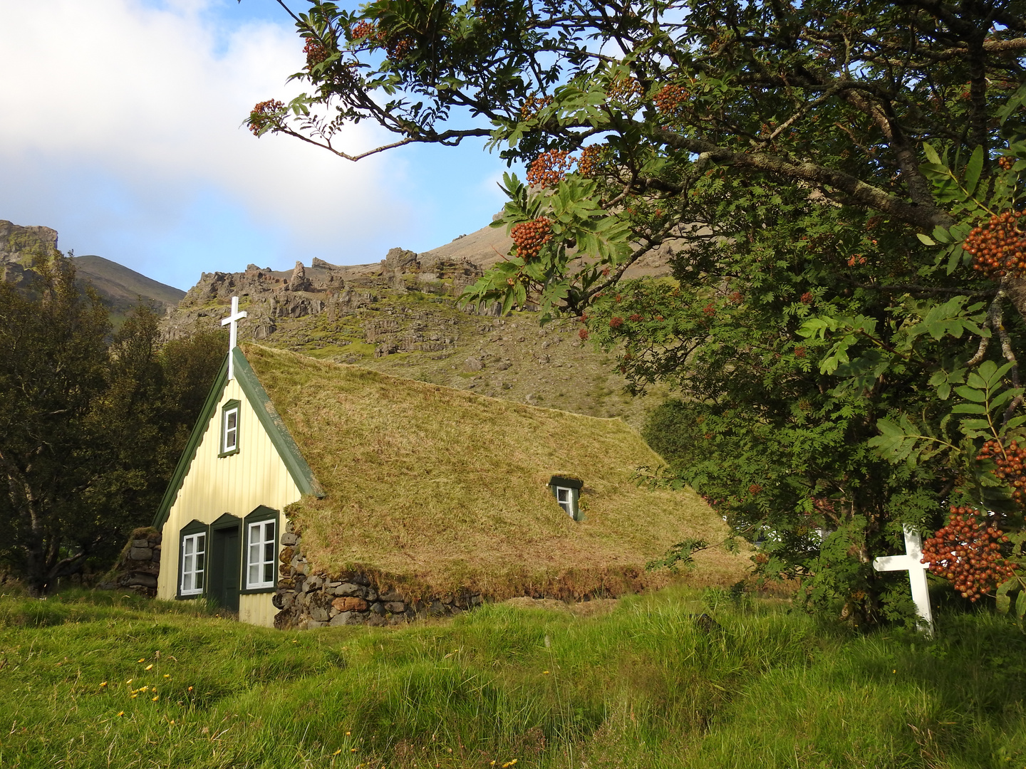
{"label": "lush green grass with small yellow flowers in the foreground", "polygon": [[942,615],[926,643],[724,595],[303,633],[4,597],[0,767],[1024,766],[1007,619]]}

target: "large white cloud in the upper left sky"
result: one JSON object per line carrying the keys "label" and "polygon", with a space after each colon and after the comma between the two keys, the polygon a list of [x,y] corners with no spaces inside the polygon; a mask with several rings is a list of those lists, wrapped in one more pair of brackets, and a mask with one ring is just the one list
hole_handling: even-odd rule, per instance
{"label": "large white cloud in the upper left sky", "polygon": [[[206,196],[268,238],[338,253],[403,214],[392,192],[401,164],[353,164],[241,127],[256,102],[292,95],[283,81],[303,64],[300,41],[289,26],[266,23],[219,37],[208,5],[0,0],[0,218],[11,218],[6,206],[36,211],[19,224],[77,215],[86,239],[104,240],[101,227],[150,227],[152,237],[200,215]],[[365,124],[347,130],[351,147],[379,138]],[[68,206],[77,211],[56,210]]]}

